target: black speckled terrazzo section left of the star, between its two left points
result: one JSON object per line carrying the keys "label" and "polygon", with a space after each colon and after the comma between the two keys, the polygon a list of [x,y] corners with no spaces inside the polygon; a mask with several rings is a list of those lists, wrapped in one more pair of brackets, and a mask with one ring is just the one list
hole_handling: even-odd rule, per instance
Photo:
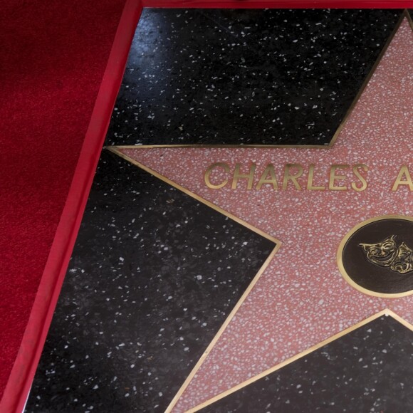
{"label": "black speckled terrazzo section left of the star, between its two left points", "polygon": [[26,412],[163,412],[273,247],[104,152]]}

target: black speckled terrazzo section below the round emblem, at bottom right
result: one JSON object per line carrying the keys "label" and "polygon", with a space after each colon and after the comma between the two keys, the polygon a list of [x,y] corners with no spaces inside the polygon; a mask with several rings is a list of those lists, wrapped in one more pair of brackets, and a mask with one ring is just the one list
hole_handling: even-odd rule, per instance
{"label": "black speckled terrazzo section below the round emblem, at bottom right", "polygon": [[199,412],[412,412],[412,356],[412,331],[383,317]]}

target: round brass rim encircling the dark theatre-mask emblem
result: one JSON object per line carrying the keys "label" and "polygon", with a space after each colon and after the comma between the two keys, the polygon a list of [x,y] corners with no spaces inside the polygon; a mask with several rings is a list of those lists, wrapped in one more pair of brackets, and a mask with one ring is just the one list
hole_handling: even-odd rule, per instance
{"label": "round brass rim encircling the dark theatre-mask emblem", "polygon": [[381,216],[375,216],[374,218],[366,219],[365,221],[360,222],[360,224],[353,226],[352,229],[350,229],[350,231],[348,231],[347,234],[345,234],[344,238],[340,241],[340,244],[338,246],[338,251],[336,255],[338,270],[340,271],[341,276],[343,276],[345,281],[347,281],[347,283],[349,283],[350,286],[352,286],[352,288],[355,288],[357,291],[360,291],[360,293],[365,293],[368,296],[380,297],[380,298],[401,298],[401,297],[411,296],[413,294],[413,290],[405,291],[404,293],[388,293],[388,294],[377,293],[376,291],[368,290],[367,288],[359,286],[355,281],[352,280],[352,278],[350,278],[350,276],[347,274],[347,271],[345,271],[344,263],[343,263],[343,250],[344,250],[345,244],[347,244],[347,241],[350,239],[350,237],[353,234],[355,234],[355,232],[357,232],[363,226],[371,224],[372,222],[382,221],[383,219],[404,219],[405,221],[413,221],[413,217],[407,216],[407,215],[381,215]]}

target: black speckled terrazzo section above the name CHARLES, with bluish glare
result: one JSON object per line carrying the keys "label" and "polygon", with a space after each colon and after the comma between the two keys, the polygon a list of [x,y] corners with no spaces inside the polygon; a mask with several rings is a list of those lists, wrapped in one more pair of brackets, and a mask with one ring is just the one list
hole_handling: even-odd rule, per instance
{"label": "black speckled terrazzo section above the name CHARLES, with bluish glare", "polygon": [[144,9],[108,145],[325,145],[401,10]]}

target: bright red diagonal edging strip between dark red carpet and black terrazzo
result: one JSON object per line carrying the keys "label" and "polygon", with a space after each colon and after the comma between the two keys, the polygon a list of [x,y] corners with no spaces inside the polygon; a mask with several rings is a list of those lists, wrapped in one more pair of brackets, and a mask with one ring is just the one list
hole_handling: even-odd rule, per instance
{"label": "bright red diagonal edging strip between dark red carpet and black terrazzo", "polygon": [[21,412],[26,404],[88,200],[100,150],[141,12],[140,0],[127,0],[21,347],[1,399],[1,412]]}

